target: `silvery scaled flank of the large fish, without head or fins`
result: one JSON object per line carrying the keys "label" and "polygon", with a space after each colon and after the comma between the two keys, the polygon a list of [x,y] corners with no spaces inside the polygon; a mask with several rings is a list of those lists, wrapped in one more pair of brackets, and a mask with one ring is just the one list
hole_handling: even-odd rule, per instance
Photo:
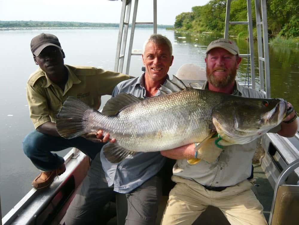
{"label": "silvery scaled flank of the large fish, without head or fins", "polygon": [[152,97],[130,105],[117,117],[104,118],[100,127],[131,151],[160,151],[201,142],[209,135],[211,123],[210,110],[204,110],[210,108],[205,107],[205,95],[205,91],[187,88]]}

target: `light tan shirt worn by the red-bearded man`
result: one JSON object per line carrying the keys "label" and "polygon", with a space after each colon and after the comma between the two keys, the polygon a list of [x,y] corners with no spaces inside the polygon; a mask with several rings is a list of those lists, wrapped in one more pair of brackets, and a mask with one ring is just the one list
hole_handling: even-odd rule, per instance
{"label": "light tan shirt worn by the red-bearded man", "polygon": [[[207,88],[205,82],[202,89]],[[262,92],[242,87],[238,83],[233,91],[234,95],[266,98]],[[187,163],[187,159],[177,160],[173,167],[176,176],[191,179],[202,185],[223,187],[232,186],[251,175],[251,160],[257,147],[257,140],[243,145],[224,146],[217,160],[208,163],[204,160],[195,165]]]}

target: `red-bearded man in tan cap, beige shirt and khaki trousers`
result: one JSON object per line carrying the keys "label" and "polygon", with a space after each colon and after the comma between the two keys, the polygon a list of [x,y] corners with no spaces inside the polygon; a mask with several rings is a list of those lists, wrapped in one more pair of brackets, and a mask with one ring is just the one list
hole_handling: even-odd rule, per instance
{"label": "red-bearded man in tan cap, beige shirt and khaki trousers", "polygon": [[[241,58],[234,41],[221,38],[211,42],[205,62],[207,81],[202,89],[242,97],[266,97],[262,92],[242,87],[235,81]],[[288,106],[292,105],[288,103]],[[297,127],[293,111],[271,132],[292,137]],[[218,207],[231,224],[267,225],[263,206],[251,190],[251,160],[256,147],[257,140],[223,146],[215,157],[211,157],[213,160],[207,160],[210,147],[202,146],[202,151],[194,151],[194,143],[161,151],[162,155],[177,159],[172,176],[176,185],[169,193],[161,225],[191,225],[209,205]],[[187,162],[190,158],[204,160],[191,165]]]}

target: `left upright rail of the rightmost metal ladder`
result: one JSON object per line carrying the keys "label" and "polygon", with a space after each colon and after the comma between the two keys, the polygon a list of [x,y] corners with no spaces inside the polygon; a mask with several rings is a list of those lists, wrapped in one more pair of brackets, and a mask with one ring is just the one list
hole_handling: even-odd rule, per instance
{"label": "left upright rail of the rightmost metal ladder", "polygon": [[264,60],[263,60],[263,42],[262,42],[262,31],[261,31],[261,16],[260,16],[260,3],[259,0],[254,1],[255,4],[255,17],[257,22],[257,52],[259,61],[259,75],[260,75],[260,90],[265,91],[264,83]]}

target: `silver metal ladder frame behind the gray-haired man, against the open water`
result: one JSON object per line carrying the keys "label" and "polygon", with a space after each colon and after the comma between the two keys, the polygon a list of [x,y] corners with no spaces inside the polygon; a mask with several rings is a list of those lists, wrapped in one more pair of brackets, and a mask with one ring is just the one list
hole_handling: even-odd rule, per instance
{"label": "silver metal ladder frame behind the gray-haired man, against the open water", "polygon": [[[123,0],[121,14],[120,14],[120,23],[119,23],[119,31],[118,31],[118,42],[116,48],[116,56],[115,56],[115,65],[114,71],[122,73],[123,72],[123,63],[124,56],[126,52],[126,41],[128,36],[129,29],[129,19],[130,19],[130,11],[133,0]],[[138,8],[138,0],[134,2],[134,10],[133,10],[133,18],[132,18],[132,27],[131,34],[129,40],[129,50],[127,52],[127,65],[126,65],[126,74],[129,74],[130,62],[132,55],[140,56],[141,53],[132,53],[134,33],[135,33],[135,25],[138,24],[152,24],[153,25],[153,33],[157,33],[157,0],[153,0],[153,22],[136,22],[137,16],[137,8]],[[126,18],[125,18],[126,14]]]}

